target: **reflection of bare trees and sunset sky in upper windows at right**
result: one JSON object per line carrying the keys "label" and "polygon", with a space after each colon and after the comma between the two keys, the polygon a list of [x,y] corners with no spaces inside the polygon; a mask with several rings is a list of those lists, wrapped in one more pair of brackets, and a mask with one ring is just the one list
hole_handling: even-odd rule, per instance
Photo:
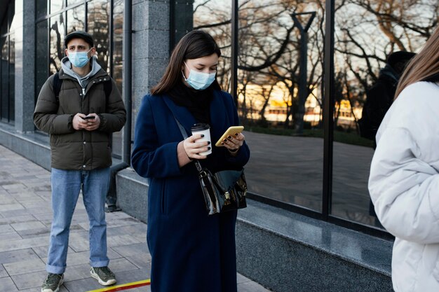
{"label": "reflection of bare trees and sunset sky in upper windows at right", "polygon": [[[229,2],[194,2],[194,29],[208,29],[222,48],[218,79],[225,90],[230,83]],[[435,0],[339,0],[336,4],[335,126],[356,130],[364,92],[377,79],[386,56],[395,50],[417,50],[437,25],[439,4]],[[323,0],[239,2],[238,93],[243,120],[262,125],[270,119],[273,122],[264,115],[277,89],[283,91],[283,126],[297,125],[300,36],[292,14],[311,11],[316,12],[316,19],[309,30],[304,120],[309,122],[307,127],[321,127]],[[302,24],[307,17],[297,16]]]}

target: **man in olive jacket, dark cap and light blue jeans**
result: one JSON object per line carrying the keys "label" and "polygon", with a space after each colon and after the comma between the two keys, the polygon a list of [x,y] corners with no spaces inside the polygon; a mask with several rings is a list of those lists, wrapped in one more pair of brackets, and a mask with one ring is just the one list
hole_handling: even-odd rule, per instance
{"label": "man in olive jacket, dark cap and light blue jeans", "polygon": [[69,227],[81,190],[90,221],[90,274],[102,285],[116,283],[108,268],[104,204],[111,133],[125,124],[126,109],[116,83],[97,64],[93,37],[72,32],[65,36],[65,47],[62,69],[44,83],[34,111],[36,127],[50,134],[52,167],[53,221],[41,292],[59,291],[62,285]]}

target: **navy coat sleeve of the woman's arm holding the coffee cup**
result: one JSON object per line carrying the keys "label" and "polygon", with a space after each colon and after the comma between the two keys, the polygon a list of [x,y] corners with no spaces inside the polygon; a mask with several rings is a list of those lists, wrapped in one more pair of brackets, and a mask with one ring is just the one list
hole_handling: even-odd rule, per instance
{"label": "navy coat sleeve of the woman's arm holding the coffee cup", "polygon": [[158,144],[158,134],[151,108],[151,96],[142,99],[135,123],[131,165],[143,177],[164,178],[181,174],[177,161],[179,142]]}

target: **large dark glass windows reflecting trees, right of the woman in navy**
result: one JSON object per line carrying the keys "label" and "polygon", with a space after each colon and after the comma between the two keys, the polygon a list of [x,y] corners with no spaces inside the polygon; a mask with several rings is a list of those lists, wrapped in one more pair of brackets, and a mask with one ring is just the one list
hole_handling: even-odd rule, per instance
{"label": "large dark glass windows reflecting trees, right of the woman in navy", "polygon": [[[334,53],[325,48],[331,7],[325,1],[195,0],[193,23],[194,29],[213,34],[222,48],[217,75],[224,90],[234,92],[230,72],[237,71],[238,111],[252,149],[246,167],[250,192],[266,202],[379,233],[367,190],[374,141],[360,135],[358,120],[386,57],[419,50],[436,25],[438,4],[331,4]],[[237,32],[231,29],[233,6]],[[231,68],[234,33],[238,62]],[[334,60],[332,80],[325,79],[330,60],[325,56]],[[326,80],[331,91],[325,94]],[[330,107],[326,116],[325,102]],[[330,125],[326,132],[325,122]]]}

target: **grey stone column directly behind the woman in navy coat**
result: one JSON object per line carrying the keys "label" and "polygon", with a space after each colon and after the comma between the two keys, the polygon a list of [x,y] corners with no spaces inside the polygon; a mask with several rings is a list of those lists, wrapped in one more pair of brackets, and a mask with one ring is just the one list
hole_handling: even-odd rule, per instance
{"label": "grey stone column directly behind the woman in navy coat", "polygon": [[[133,4],[133,125],[142,97],[165,72],[170,46],[175,46],[192,30],[193,3],[193,0],[140,0]],[[175,11],[172,20],[170,5],[174,5]]]}

